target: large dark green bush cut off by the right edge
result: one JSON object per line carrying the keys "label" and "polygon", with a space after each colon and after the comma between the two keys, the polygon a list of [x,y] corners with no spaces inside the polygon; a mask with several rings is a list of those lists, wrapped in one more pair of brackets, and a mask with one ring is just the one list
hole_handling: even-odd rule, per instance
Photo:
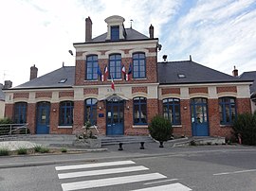
{"label": "large dark green bush cut off by the right edge", "polygon": [[240,136],[243,144],[256,146],[256,113],[238,114],[232,128],[236,138]]}

